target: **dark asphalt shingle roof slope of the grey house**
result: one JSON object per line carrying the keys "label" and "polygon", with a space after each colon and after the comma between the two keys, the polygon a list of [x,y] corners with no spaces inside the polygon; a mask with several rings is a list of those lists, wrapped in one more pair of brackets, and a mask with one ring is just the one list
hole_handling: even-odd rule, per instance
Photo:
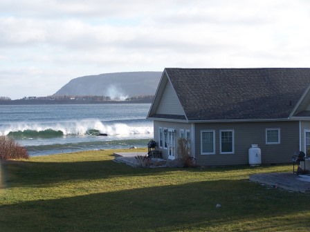
{"label": "dark asphalt shingle roof slope of the grey house", "polygon": [[310,68],[165,68],[189,120],[289,117]]}

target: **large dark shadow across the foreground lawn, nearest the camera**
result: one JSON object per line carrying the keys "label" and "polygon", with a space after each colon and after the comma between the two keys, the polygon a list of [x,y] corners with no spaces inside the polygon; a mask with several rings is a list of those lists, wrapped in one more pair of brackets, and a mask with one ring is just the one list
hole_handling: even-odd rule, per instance
{"label": "large dark shadow across the foreground lawn, nearest the camera", "polygon": [[158,186],[3,205],[0,228],[24,232],[248,231],[243,227],[247,223],[259,221],[252,226],[264,228],[262,221],[267,218],[269,224],[282,226],[273,218],[300,212],[306,218],[290,221],[290,228],[309,228],[310,198],[298,195],[292,201],[294,196],[245,180]]}

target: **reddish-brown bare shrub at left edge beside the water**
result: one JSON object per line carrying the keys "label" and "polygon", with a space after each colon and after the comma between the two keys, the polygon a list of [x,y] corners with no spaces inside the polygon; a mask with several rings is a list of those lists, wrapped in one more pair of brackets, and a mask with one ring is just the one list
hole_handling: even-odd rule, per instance
{"label": "reddish-brown bare shrub at left edge beside the water", "polygon": [[29,159],[28,151],[13,139],[0,136],[0,160]]}

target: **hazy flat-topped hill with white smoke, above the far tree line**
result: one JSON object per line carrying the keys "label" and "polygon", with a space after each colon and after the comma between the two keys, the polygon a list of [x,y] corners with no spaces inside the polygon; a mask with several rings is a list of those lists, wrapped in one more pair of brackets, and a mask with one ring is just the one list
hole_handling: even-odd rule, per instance
{"label": "hazy flat-topped hill with white smoke, above the far tree line", "polygon": [[115,72],[78,77],[58,90],[59,95],[97,95],[111,99],[154,95],[162,72]]}

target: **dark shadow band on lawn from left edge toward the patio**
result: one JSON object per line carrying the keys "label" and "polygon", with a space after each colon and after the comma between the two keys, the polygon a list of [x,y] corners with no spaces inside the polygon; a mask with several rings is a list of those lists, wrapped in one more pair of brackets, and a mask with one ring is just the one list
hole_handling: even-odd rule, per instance
{"label": "dark shadow band on lawn from left edge toward the patio", "polygon": [[6,187],[48,186],[74,180],[98,180],[110,177],[143,175],[137,168],[112,160],[89,162],[23,162],[6,161],[2,164]]}

